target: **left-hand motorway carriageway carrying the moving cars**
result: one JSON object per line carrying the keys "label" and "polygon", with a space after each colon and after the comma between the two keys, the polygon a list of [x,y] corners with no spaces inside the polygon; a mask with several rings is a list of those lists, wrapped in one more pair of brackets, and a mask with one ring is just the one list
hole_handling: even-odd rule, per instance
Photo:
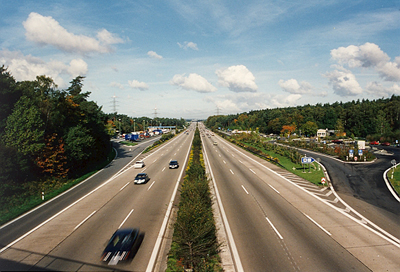
{"label": "left-hand motorway carriageway carrying the moving cars", "polygon": [[[193,132],[181,133],[150,153],[130,158],[128,164],[123,158],[131,157],[133,149],[126,148],[125,154],[115,160],[123,160],[125,166],[118,164],[114,174],[102,178],[90,192],[42,223],[30,224],[29,231],[13,242],[7,241],[7,246],[2,244],[1,269],[151,271],[192,138]],[[171,159],[178,160],[180,168],[169,169]],[[136,160],[143,160],[145,168],[134,169]],[[142,171],[150,181],[135,185],[134,177]],[[116,266],[103,263],[100,258],[111,235],[118,228],[134,227],[140,228],[140,239],[133,260]],[[7,230],[2,229],[2,235],[7,236]]]}

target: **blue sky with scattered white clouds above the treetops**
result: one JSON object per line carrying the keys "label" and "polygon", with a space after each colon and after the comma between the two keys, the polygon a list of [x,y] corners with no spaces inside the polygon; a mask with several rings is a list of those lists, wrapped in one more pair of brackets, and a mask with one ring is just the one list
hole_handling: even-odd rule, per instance
{"label": "blue sky with scattered white clouds above the treetops", "polygon": [[103,112],[206,119],[400,95],[400,1],[0,0],[17,81],[84,76]]}

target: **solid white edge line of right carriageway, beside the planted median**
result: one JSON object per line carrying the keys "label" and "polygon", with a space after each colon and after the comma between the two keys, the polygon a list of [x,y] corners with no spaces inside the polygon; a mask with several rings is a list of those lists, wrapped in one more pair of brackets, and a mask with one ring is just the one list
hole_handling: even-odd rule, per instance
{"label": "solid white edge line of right carriageway, beside the planted median", "polygon": [[213,182],[213,185],[214,185],[215,195],[216,195],[216,198],[217,198],[217,203],[218,203],[219,210],[220,210],[221,215],[222,215],[222,220],[224,222],[225,230],[226,230],[226,233],[227,233],[227,236],[228,236],[231,253],[233,255],[232,259],[235,262],[236,271],[243,272],[244,269],[243,269],[243,266],[242,266],[242,262],[240,260],[239,252],[237,250],[237,247],[236,247],[236,244],[235,244],[235,240],[233,239],[233,234],[232,234],[231,228],[229,227],[228,218],[226,217],[226,214],[225,214],[225,210],[224,210],[224,207],[223,207],[223,204],[222,204],[221,196],[219,195],[217,183],[215,181],[214,173],[212,171],[211,164],[210,164],[210,162],[208,160],[207,151],[205,149],[203,141],[202,141],[202,145],[203,145],[204,158],[205,158],[204,162],[207,163],[208,169],[210,171],[211,179],[212,179],[212,182]]}

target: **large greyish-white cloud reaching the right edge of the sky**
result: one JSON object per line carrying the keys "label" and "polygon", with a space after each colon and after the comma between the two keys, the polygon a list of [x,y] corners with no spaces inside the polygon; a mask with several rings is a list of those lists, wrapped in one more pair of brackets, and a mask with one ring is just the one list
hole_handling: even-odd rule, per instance
{"label": "large greyish-white cloud reaching the right edge of the sky", "polygon": [[333,60],[350,68],[373,68],[386,81],[400,81],[400,57],[390,62],[390,57],[374,43],[350,45],[331,51]]}

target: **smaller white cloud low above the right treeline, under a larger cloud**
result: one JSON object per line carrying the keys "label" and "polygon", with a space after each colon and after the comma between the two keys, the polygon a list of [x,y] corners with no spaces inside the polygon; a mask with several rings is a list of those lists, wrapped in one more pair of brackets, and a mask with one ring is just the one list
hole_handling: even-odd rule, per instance
{"label": "smaller white cloud low above the right treeline, under a larger cloud", "polygon": [[334,92],[340,96],[354,96],[362,93],[362,88],[356,77],[347,69],[334,65],[336,70],[326,73],[323,76],[329,79]]}

